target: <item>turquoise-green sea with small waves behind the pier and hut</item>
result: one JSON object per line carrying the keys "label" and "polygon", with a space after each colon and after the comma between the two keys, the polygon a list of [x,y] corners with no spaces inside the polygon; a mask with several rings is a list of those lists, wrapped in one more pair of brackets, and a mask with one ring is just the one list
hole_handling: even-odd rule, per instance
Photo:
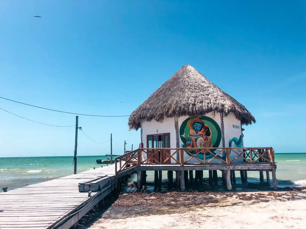
{"label": "turquoise-green sea with small waves behind the pier and hut", "polygon": [[[104,160],[106,157],[79,156],[77,172],[100,166],[96,163],[96,159]],[[73,157],[0,158],[0,188],[14,189],[73,174],[72,162]],[[306,186],[306,154],[275,154],[275,162],[277,162],[276,176],[279,187]],[[153,173],[147,175],[148,181],[154,179]],[[237,172],[236,177],[239,176]],[[166,174],[163,177],[166,178]],[[249,182],[257,182],[258,178],[259,172],[248,172]],[[239,181],[239,178],[237,180]]]}

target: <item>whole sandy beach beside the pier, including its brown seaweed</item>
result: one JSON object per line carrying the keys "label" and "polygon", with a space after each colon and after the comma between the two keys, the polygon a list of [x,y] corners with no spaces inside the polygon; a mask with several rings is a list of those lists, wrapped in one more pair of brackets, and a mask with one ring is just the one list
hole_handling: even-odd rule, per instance
{"label": "whole sandy beach beside the pier, including its brown seaweed", "polygon": [[[85,222],[85,221],[84,221]],[[306,190],[126,194],[79,228],[305,228]]]}

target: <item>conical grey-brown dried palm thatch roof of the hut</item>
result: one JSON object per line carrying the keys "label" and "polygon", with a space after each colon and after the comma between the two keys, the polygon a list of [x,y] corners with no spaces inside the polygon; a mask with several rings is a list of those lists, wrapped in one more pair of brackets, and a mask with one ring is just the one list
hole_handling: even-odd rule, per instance
{"label": "conical grey-brown dried palm thatch roof of the hut", "polygon": [[196,117],[210,112],[223,113],[225,116],[232,112],[243,125],[256,122],[254,116],[237,100],[194,67],[184,65],[133,111],[129,117],[129,128],[139,129],[141,121],[155,119],[162,122],[165,117]]}

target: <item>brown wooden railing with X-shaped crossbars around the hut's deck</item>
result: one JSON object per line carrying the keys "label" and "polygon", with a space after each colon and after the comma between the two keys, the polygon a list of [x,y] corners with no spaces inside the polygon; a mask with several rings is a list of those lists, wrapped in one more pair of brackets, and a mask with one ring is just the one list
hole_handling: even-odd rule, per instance
{"label": "brown wooden railing with X-shaped crossbars around the hut's deck", "polygon": [[115,171],[117,174],[141,165],[236,165],[241,163],[273,165],[274,150],[272,147],[140,148],[117,157]]}

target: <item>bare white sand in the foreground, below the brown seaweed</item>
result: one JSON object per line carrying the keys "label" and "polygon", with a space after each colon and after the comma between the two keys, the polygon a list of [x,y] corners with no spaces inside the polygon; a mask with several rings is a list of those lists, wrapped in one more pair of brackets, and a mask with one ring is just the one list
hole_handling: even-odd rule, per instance
{"label": "bare white sand in the foreground, below the brown seaweed", "polygon": [[[223,205],[237,202],[227,200]],[[222,204],[221,204],[222,205]],[[187,213],[97,220],[90,229],[306,228],[306,200],[210,204]]]}

